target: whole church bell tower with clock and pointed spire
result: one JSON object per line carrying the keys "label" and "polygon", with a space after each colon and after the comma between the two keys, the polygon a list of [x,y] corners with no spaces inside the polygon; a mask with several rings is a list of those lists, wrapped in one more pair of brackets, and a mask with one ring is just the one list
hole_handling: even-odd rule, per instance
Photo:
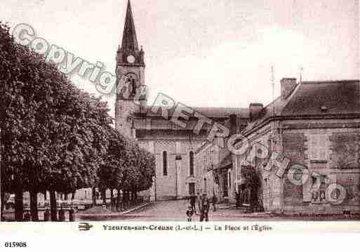
{"label": "whole church bell tower with clock and pointed spire", "polygon": [[146,112],[147,88],[145,86],[144,51],[139,50],[133,11],[128,0],[124,35],[116,56],[116,129],[134,137],[133,118]]}

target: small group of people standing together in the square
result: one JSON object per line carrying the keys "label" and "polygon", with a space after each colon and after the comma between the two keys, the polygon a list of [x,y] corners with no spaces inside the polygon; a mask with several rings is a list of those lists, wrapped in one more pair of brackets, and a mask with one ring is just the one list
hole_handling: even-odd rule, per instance
{"label": "small group of people standing together in the square", "polygon": [[[190,205],[187,208],[186,215],[187,221],[192,221],[192,216],[194,214],[200,215],[200,221],[208,221],[208,212],[210,210],[210,203],[213,204],[213,211],[216,211],[216,203],[218,202],[218,198],[213,194],[211,199],[204,193],[202,195],[197,193],[190,195]],[[196,203],[198,205],[198,211],[196,212]]]}

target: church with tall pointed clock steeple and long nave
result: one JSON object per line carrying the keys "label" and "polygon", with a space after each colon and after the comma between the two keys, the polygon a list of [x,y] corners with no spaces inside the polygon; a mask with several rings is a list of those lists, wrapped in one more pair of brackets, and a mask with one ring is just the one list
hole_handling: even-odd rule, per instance
{"label": "church with tall pointed clock steeple and long nave", "polygon": [[[202,171],[195,167],[195,151],[204,145],[210,125],[194,133],[198,120],[189,117],[185,128],[164,119],[161,110],[147,105],[145,84],[145,52],[138,46],[131,3],[128,1],[124,34],[116,57],[116,129],[135,138],[156,157],[156,177],[151,192],[152,200],[181,199],[201,192]],[[249,117],[247,108],[196,107],[196,113],[218,124],[237,114],[244,122]],[[171,112],[170,112],[171,113]]]}

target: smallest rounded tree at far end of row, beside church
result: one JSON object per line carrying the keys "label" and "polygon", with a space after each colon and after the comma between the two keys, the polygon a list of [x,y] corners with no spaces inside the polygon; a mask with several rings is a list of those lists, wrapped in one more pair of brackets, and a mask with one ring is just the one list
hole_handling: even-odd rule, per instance
{"label": "smallest rounded tree at far end of row, beside church", "polygon": [[[142,150],[135,140],[124,137],[114,128],[107,128],[107,132],[109,145],[104,162],[98,169],[98,187],[102,191],[110,189],[112,192],[116,189],[116,208],[119,208],[120,192],[123,192],[122,201],[127,205],[131,199],[136,199],[138,192],[152,186],[155,157]],[[111,198],[113,204],[114,199]]]}

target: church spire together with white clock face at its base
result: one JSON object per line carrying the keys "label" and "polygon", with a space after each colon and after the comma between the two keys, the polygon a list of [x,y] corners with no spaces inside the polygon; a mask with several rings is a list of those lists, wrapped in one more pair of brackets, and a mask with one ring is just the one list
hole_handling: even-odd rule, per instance
{"label": "church spire together with white clock face at its base", "polygon": [[145,65],[144,52],[142,50],[139,51],[130,0],[128,0],[126,8],[124,33],[118,51],[117,62],[119,65]]}

